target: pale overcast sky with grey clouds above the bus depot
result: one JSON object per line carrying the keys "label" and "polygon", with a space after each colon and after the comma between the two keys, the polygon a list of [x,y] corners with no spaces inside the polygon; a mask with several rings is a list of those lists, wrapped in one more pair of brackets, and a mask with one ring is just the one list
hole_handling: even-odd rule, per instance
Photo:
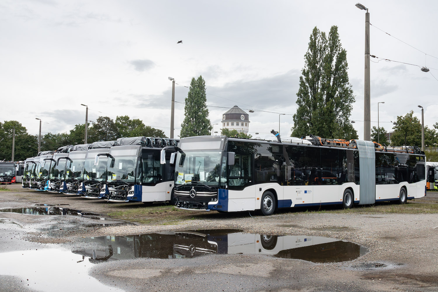
{"label": "pale overcast sky with grey clouds above the bus depot", "polygon": [[[371,54],[438,69],[435,1],[364,1],[371,15]],[[254,109],[250,134],[290,135],[304,54],[314,26],[339,27],[356,95],[351,119],[363,138],[364,19],[354,1],[57,1],[0,2],[0,120],[30,134],[64,132],[98,116],[129,115],[170,133],[172,83],[184,102],[192,77],[207,85],[215,130],[222,113]],[[400,42],[392,36],[406,42]],[[177,44],[177,41],[183,43]],[[413,47],[417,48],[413,48]],[[430,55],[426,56],[424,53]],[[377,62],[377,59],[372,59]],[[410,110],[438,122],[438,70],[371,63],[371,126],[391,130]],[[216,107],[213,107],[216,106]],[[261,112],[268,111],[273,113]],[[184,105],[175,105],[175,136]]]}

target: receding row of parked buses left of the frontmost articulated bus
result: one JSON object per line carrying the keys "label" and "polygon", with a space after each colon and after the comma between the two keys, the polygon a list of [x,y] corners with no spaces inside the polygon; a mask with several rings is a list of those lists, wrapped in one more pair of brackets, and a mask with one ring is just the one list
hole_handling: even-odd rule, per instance
{"label": "receding row of parked buses left of the frontmost articulated bus", "polygon": [[22,188],[111,202],[173,202],[174,168],[160,163],[160,153],[177,145],[175,139],[130,137],[43,151],[26,159]]}

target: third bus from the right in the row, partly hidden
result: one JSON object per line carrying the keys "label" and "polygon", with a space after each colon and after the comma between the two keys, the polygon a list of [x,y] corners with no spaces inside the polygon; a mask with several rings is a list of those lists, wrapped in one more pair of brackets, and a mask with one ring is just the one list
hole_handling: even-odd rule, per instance
{"label": "third bus from the right in the row, partly hidden", "polygon": [[102,199],[100,194],[106,182],[106,156],[97,156],[99,153],[109,153],[116,141],[94,142],[89,145],[84,163],[84,179],[78,189],[78,195],[86,199]]}

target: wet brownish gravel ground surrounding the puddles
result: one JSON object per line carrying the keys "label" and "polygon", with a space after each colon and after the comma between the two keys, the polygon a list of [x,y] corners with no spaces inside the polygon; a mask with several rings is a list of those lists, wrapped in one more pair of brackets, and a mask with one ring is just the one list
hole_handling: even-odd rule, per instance
{"label": "wet brownish gravel ground surrounding the puddles", "polygon": [[[0,192],[0,208],[30,206],[32,202],[44,201],[105,213],[104,203],[52,194],[35,195],[16,186],[14,189]],[[433,196],[438,197],[434,193]],[[428,197],[431,196],[428,194]],[[105,227],[97,225],[103,221]],[[344,263],[315,264],[267,255],[225,254],[184,260],[119,260],[96,264],[90,270],[92,277],[126,291],[438,291],[436,214],[291,212],[253,218],[242,213],[187,220],[177,225],[134,225],[111,221],[105,216],[81,218],[0,213],[0,224],[2,252],[53,245],[74,249],[83,247],[82,236],[193,229],[325,236],[346,239],[369,249],[365,255]],[[376,263],[385,264],[385,267],[374,268]],[[0,287],[20,287],[22,279],[18,279],[0,276]],[[0,291],[8,290],[0,288]]]}

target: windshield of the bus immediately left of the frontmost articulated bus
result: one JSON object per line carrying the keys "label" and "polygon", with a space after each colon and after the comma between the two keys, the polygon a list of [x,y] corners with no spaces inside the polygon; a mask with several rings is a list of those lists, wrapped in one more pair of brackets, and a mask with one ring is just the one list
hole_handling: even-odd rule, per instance
{"label": "windshield of the bus immediately left of the frontmost articulated bus", "polygon": [[135,182],[135,167],[137,156],[115,156],[108,159],[107,181],[123,180],[127,183]]}

